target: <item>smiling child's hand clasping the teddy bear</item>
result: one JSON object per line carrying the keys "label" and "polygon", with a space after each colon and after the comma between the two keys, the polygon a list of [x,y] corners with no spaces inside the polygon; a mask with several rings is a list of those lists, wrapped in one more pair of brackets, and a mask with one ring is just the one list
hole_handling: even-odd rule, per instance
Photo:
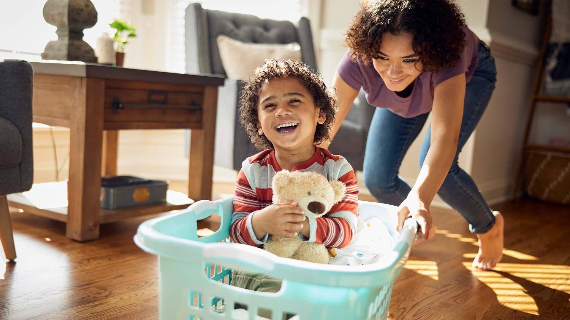
{"label": "smiling child's hand clasping the teddy bear", "polygon": [[271,204],[255,212],[251,217],[251,226],[258,240],[266,233],[292,238],[301,231],[305,219],[303,209],[297,207],[297,203]]}

